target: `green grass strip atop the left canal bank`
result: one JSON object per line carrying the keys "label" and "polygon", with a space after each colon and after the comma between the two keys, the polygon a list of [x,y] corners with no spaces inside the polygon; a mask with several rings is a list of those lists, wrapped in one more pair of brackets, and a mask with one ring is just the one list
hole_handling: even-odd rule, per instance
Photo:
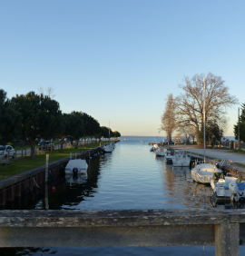
{"label": "green grass strip atop the left canal bank", "polygon": [[[49,162],[54,162],[60,159],[63,159],[67,156],[70,156],[70,153],[83,153],[86,150],[93,149],[100,146],[100,143],[91,143],[83,146],[79,146],[78,149],[70,148],[64,149],[63,152],[55,150],[54,152],[48,152]],[[16,158],[13,163],[10,165],[2,166],[0,165],[0,180],[6,177],[16,175],[21,172],[31,170],[35,167],[42,166],[46,162],[46,153],[35,155],[34,159],[31,159],[30,156],[23,158]]]}

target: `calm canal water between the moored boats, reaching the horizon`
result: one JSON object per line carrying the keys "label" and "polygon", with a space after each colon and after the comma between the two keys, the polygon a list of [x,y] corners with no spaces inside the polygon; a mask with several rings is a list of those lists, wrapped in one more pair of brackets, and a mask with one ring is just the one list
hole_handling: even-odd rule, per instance
{"label": "calm canal water between the moored boats, reaching the horizon", "polygon": [[[211,187],[192,182],[189,168],[167,166],[148,143],[161,137],[121,137],[113,153],[93,158],[87,176],[66,178],[49,194],[51,210],[211,208]],[[34,209],[44,209],[44,200]],[[12,250],[12,249],[11,249]],[[10,253],[11,250],[8,252]],[[1,253],[1,251],[0,251]],[[7,251],[5,251],[7,253]],[[13,252],[14,253],[14,252]],[[214,246],[31,248],[1,255],[215,255]]]}

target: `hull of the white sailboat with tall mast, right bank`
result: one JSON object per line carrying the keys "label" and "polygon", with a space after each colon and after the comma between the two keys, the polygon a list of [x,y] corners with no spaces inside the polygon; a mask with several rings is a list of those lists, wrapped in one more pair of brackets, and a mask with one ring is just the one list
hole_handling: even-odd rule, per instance
{"label": "hull of the white sailboat with tall mast, right bank", "polygon": [[222,172],[216,164],[202,162],[191,169],[191,177],[195,182],[211,183],[214,172]]}

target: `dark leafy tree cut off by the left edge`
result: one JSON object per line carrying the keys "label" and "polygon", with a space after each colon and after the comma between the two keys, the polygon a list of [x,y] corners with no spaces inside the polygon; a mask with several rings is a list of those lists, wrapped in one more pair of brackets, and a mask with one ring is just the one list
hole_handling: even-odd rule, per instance
{"label": "dark leafy tree cut off by the left edge", "polygon": [[15,105],[6,98],[4,90],[0,90],[0,143],[12,141],[20,129],[20,118]]}

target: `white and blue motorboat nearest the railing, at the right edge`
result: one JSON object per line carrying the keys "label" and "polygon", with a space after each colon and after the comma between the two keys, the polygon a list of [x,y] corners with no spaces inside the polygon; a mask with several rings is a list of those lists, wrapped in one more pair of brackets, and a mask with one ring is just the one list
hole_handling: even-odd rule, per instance
{"label": "white and blue motorboat nearest the railing, at the right edge", "polygon": [[216,202],[245,200],[245,182],[238,182],[237,178],[225,176],[218,181],[212,179],[211,188]]}

